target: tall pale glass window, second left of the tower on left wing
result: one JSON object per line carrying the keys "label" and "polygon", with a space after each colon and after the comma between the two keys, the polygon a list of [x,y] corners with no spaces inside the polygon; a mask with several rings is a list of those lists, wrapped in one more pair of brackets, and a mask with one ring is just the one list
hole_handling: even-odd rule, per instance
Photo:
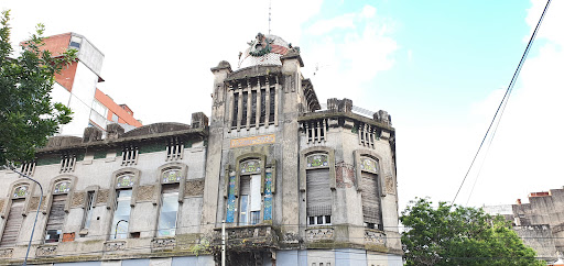
{"label": "tall pale glass window, second left of the tower on left wing", "polygon": [[110,239],[127,239],[129,231],[129,215],[131,214],[131,189],[116,191],[116,208],[111,222]]}

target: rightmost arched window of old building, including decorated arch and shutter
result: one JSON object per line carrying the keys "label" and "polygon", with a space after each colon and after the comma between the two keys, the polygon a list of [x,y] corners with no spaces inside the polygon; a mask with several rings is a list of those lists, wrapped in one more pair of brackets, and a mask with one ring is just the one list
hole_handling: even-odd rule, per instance
{"label": "rightmost arched window of old building, including decorated arch and shutter", "polygon": [[362,221],[369,229],[382,229],[380,182],[378,160],[362,156],[359,162],[361,173]]}

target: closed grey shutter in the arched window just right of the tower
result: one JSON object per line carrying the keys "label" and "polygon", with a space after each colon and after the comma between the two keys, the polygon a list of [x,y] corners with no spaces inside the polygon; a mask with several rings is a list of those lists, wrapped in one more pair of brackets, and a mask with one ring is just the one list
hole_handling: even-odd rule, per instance
{"label": "closed grey shutter in the arched window just right of the tower", "polygon": [[330,215],[332,191],[329,169],[307,170],[306,174],[307,217]]}

